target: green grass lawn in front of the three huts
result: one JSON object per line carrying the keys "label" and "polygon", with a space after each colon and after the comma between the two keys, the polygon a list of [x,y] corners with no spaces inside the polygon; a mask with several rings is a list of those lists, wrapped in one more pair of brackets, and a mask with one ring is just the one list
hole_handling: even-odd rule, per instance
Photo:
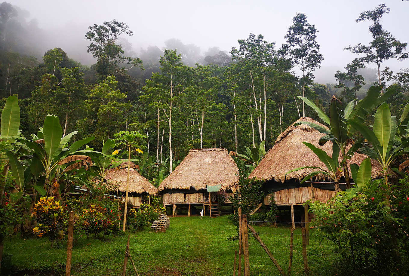
{"label": "green grass lawn in front of the three huts", "polygon": [[[288,239],[287,227],[255,227],[261,238],[283,265],[288,266],[288,249],[283,246]],[[295,231],[294,245],[297,241]],[[234,251],[238,240],[228,240],[236,235],[236,227],[227,220],[205,217],[171,218],[171,225],[165,233],[148,230],[130,233],[130,254],[141,276],[224,276],[233,275]],[[124,252],[128,235],[110,236],[106,240],[82,238],[72,250],[73,276],[118,276],[122,272]],[[273,240],[273,237],[278,239]],[[282,242],[281,246],[278,246]],[[22,240],[13,237],[4,243],[4,254],[12,254],[11,275],[65,275],[66,247],[51,248],[46,238]],[[249,236],[250,266],[252,275],[279,275],[277,269],[262,251],[253,237]],[[322,247],[309,250],[313,275],[323,275],[322,256],[328,252]],[[294,246],[293,275],[302,275],[300,247]],[[316,258],[314,257],[316,255]],[[321,256],[322,255],[322,256]],[[7,265],[4,263],[4,265]],[[328,263],[326,265],[328,267]],[[130,261],[126,275],[135,275]]]}

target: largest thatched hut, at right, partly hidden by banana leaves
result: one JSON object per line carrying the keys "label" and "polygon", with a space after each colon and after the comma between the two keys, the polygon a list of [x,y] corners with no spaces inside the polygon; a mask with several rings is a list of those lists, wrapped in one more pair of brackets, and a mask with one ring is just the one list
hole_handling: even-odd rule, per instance
{"label": "largest thatched hut, at right, partly hidden by banana leaves", "polygon": [[[326,126],[309,117],[304,117],[294,122],[279,135],[274,146],[266,153],[260,164],[249,175],[250,178],[256,177],[258,180],[265,182],[262,188],[267,194],[264,199],[264,204],[266,205],[270,204],[272,197],[278,206],[296,206],[302,205],[310,199],[327,202],[335,195],[335,185],[328,175],[318,174],[312,177],[310,181],[300,184],[304,177],[317,169],[305,168],[286,174],[294,168],[303,166],[326,168],[325,164],[321,162],[317,155],[303,144],[304,141],[313,144],[317,148],[321,148],[329,156],[332,156],[332,143],[328,142],[324,146],[320,146],[318,141],[324,135],[305,124],[295,125],[302,121],[316,123],[326,128]],[[349,148],[351,148],[351,145],[347,147],[347,150]],[[350,178],[351,164],[355,163],[360,165],[366,158],[368,158],[368,156],[355,153],[350,160],[347,160]],[[372,177],[382,177],[380,164],[375,160],[371,160],[371,164]],[[344,172],[342,172],[342,175],[343,174]],[[342,185],[344,181],[344,177],[342,177],[340,186],[343,188],[345,188],[345,183]],[[293,210],[293,207],[291,207],[291,210]],[[301,211],[301,209],[299,211]],[[301,218],[306,214],[308,214],[308,209],[307,211],[304,210]]]}

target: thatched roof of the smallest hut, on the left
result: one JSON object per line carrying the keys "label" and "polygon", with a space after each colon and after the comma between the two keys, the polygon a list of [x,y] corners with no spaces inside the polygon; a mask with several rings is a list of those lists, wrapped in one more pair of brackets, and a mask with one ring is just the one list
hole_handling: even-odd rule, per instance
{"label": "thatched roof of the smallest hut, on the left", "polygon": [[[125,166],[125,165],[124,165]],[[111,169],[106,175],[106,180],[119,182],[118,190],[126,191],[126,178],[128,176],[128,167],[119,166]],[[136,165],[135,165],[136,166]],[[150,195],[157,194],[157,188],[151,184],[145,177],[140,175],[132,166],[129,169],[129,193],[148,193]]]}

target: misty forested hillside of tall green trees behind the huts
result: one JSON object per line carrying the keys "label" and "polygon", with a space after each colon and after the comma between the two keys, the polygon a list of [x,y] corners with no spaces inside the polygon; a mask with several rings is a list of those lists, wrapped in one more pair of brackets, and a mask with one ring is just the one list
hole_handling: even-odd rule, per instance
{"label": "misty forested hillside of tall green trees behind the huts", "polygon": [[[319,84],[314,71],[325,56],[316,41],[319,30],[303,13],[283,34],[284,45],[254,30],[238,37],[230,52],[213,47],[202,53],[196,45],[170,39],[163,49],[150,46],[136,54],[125,38],[133,35],[126,22],[95,22],[83,34],[95,61],[87,67],[58,47],[40,54],[37,45],[44,37],[32,34],[41,30],[25,20],[25,11],[3,2],[1,104],[18,96],[26,137],[43,126],[47,114],[58,116],[64,134],[79,130],[76,139],[95,136],[97,149],[121,130],[139,131],[158,162],[169,156],[180,160],[191,148],[242,152],[265,141],[267,149],[299,117],[318,119],[297,96],[326,110],[332,95],[343,102],[362,99],[380,83],[396,88],[389,103],[400,114],[408,101],[409,71],[395,74],[382,62],[405,60],[407,43],[383,29],[381,18],[388,12],[383,4],[361,14],[357,21],[372,24],[373,43],[345,45],[357,58],[340,65],[345,70],[335,75],[336,84]],[[372,63],[377,69],[366,68]]]}

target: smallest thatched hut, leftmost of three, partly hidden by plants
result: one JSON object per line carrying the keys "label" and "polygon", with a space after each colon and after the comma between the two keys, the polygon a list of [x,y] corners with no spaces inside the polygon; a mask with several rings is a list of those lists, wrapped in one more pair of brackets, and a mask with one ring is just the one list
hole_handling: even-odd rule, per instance
{"label": "smallest thatched hut, leftmost of three, partly hidden by plants", "polygon": [[[138,168],[139,167],[133,163],[131,163],[129,168],[128,200],[130,200],[134,208],[139,208],[142,200],[151,203],[151,195],[157,194],[157,188],[138,173]],[[119,196],[125,198],[127,177],[128,164],[122,163],[117,168],[111,169],[105,179],[108,182],[116,182],[118,184],[117,190]]]}

